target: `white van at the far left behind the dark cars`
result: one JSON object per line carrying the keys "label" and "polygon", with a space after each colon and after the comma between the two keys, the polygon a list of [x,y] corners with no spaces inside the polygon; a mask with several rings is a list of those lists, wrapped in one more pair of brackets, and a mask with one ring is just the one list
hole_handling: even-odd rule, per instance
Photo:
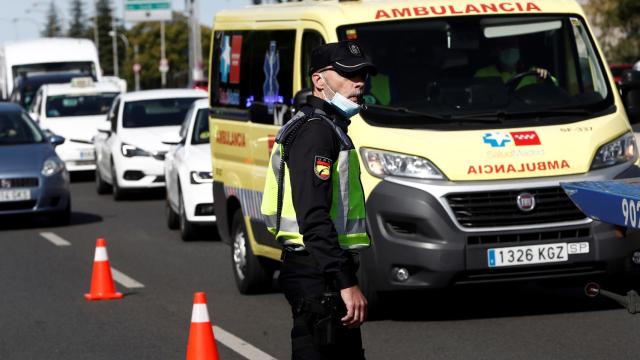
{"label": "white van at the far left behind the dark cars", "polygon": [[0,95],[11,95],[20,76],[49,72],[77,72],[100,81],[102,70],[92,41],[71,38],[43,38],[19,41],[0,47]]}

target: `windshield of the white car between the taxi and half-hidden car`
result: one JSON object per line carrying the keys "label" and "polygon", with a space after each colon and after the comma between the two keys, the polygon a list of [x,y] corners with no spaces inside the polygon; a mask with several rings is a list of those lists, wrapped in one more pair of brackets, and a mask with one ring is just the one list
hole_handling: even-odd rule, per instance
{"label": "windshield of the white car between the taxi and half-hidden car", "polygon": [[180,125],[191,104],[199,98],[129,101],[124,105],[122,126],[126,128]]}

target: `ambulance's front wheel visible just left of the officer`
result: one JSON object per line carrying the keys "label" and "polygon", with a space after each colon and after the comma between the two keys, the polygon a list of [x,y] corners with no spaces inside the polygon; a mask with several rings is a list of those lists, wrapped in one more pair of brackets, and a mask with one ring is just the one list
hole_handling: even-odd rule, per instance
{"label": "ambulance's front wheel visible just left of the officer", "polygon": [[240,209],[233,215],[231,228],[231,262],[236,286],[241,294],[267,292],[271,286],[271,273],[251,251],[247,229]]}

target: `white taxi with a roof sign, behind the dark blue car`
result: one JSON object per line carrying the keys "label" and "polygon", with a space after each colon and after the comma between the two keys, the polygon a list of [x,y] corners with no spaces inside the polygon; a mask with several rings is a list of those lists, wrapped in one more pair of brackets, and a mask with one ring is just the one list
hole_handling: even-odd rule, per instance
{"label": "white taxi with a roof sign, behind the dark blue car", "polygon": [[42,85],[36,92],[29,113],[45,132],[66,139],[56,153],[69,171],[95,170],[93,138],[119,93],[118,86],[94,83],[91,78]]}

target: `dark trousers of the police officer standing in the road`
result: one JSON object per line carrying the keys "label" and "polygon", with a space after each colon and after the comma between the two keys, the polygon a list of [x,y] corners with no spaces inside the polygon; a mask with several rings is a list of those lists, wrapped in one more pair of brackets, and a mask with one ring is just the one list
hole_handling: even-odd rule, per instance
{"label": "dark trousers of the police officer standing in the road", "polygon": [[[313,325],[317,320],[313,314],[296,311],[296,306],[302,298],[321,299],[323,293],[331,289],[323,274],[314,264],[313,258],[303,251],[285,252],[282,269],[279,277],[287,301],[291,305],[293,314],[293,329],[291,330],[291,347],[294,360],[362,360],[362,336],[360,329],[348,329],[340,326],[335,345],[318,346],[314,343]],[[339,291],[338,291],[339,292]],[[340,305],[344,309],[344,303],[340,299]]]}

